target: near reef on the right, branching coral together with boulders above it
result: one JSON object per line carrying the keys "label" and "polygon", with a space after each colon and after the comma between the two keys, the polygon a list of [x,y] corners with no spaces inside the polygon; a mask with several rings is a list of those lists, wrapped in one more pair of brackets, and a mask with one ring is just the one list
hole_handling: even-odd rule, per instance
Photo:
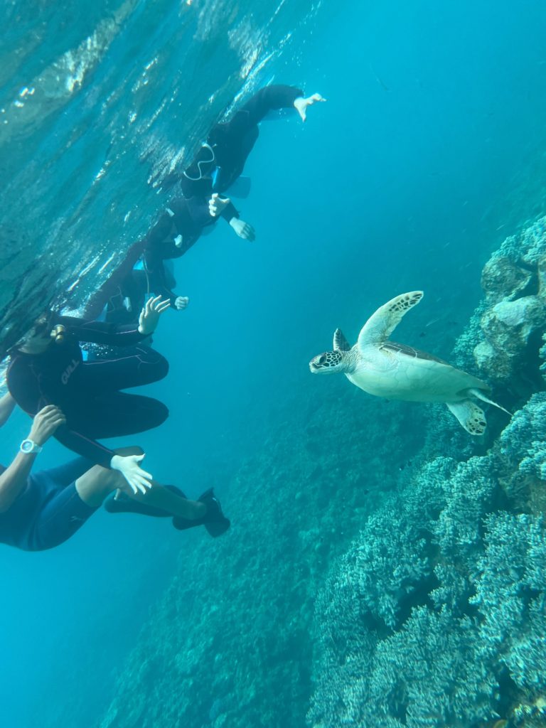
{"label": "near reef on the right, branching coral together with boulders above it", "polygon": [[[491,256],[455,351],[521,408],[497,437],[494,416],[483,454],[400,483],[339,559],[317,599],[313,728],[546,724],[546,392],[531,393],[545,388],[545,231]],[[434,441],[453,454],[442,416]]]}

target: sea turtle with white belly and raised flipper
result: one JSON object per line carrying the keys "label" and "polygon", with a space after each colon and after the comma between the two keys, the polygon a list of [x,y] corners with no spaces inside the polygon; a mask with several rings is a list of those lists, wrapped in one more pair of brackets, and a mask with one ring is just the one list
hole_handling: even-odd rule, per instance
{"label": "sea turtle with white belly and raised flipper", "polygon": [[414,290],[387,301],[365,323],[354,347],[336,329],[333,352],[313,357],[309,368],[314,374],[342,372],[357,387],[378,397],[445,402],[470,435],[481,435],[486,417],[470,397],[510,414],[486,397],[487,384],[426,352],[389,341],[403,315],[422,297],[422,290]]}

